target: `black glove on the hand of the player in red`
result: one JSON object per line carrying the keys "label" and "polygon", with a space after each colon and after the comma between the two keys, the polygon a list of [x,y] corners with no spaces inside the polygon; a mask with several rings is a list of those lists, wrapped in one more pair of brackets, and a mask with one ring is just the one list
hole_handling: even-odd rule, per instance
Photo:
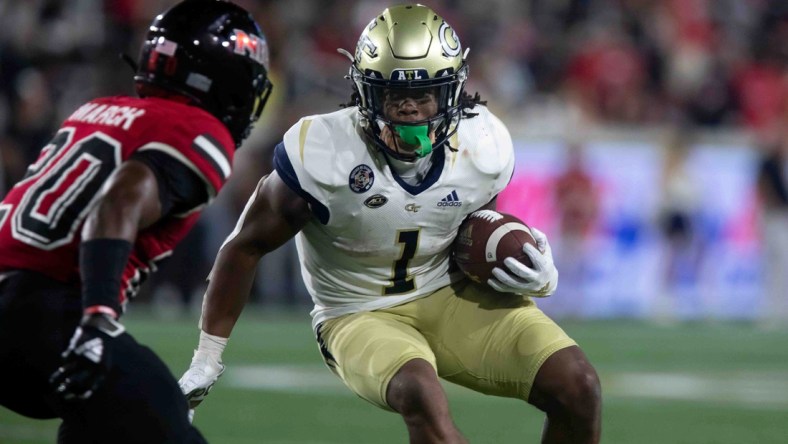
{"label": "black glove on the hand of the player in red", "polygon": [[90,398],[109,372],[114,339],[125,331],[108,314],[83,316],[63,352],[63,363],[49,378],[55,393],[67,401]]}

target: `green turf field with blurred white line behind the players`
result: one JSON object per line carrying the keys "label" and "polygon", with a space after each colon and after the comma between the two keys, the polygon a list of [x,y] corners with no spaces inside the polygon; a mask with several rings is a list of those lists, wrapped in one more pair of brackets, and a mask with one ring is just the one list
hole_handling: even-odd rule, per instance
{"label": "green turf field with blurred white line behind the players", "polygon": [[[225,353],[227,372],[197,410],[195,424],[214,443],[407,442],[397,415],[356,398],[323,367],[306,311],[243,315]],[[131,313],[126,324],[176,375],[187,368],[196,319]],[[603,442],[788,442],[788,329],[738,323],[562,325],[601,376]],[[455,421],[470,442],[538,442],[542,415],[536,409],[446,388]],[[0,408],[0,443],[52,443],[56,427],[54,421],[31,421]]]}

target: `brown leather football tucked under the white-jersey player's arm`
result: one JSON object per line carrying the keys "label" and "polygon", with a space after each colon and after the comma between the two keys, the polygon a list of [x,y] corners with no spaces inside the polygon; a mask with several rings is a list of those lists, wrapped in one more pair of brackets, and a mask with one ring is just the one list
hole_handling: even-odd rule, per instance
{"label": "brown leather football tucked under the white-jersey player's arm", "polygon": [[476,282],[487,282],[493,268],[506,269],[503,260],[507,257],[532,266],[531,259],[523,252],[526,243],[536,246],[530,228],[523,221],[511,214],[480,210],[460,224],[452,254],[466,276]]}

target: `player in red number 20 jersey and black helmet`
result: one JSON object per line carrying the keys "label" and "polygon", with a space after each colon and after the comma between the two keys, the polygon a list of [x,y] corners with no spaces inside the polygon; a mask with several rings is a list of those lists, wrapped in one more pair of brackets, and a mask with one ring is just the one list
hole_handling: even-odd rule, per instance
{"label": "player in red number 20 jersey and black helmet", "polygon": [[204,442],[119,317],[227,181],[267,65],[248,12],[183,1],[150,25],[139,97],[84,104],[43,147],[0,203],[0,404],[62,418],[59,442]]}

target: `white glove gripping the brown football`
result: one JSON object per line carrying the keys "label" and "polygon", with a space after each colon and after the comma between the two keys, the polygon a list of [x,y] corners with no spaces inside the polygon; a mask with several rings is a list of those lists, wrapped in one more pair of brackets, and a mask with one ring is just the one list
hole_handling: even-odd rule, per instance
{"label": "white glove gripping the brown football", "polygon": [[558,288],[558,270],[553,263],[553,252],[544,233],[531,227],[531,234],[536,240],[538,249],[531,244],[523,245],[523,252],[533,263],[527,267],[513,257],[507,257],[503,263],[508,270],[495,267],[493,277],[487,284],[503,293],[515,293],[524,296],[543,298],[550,296]]}

